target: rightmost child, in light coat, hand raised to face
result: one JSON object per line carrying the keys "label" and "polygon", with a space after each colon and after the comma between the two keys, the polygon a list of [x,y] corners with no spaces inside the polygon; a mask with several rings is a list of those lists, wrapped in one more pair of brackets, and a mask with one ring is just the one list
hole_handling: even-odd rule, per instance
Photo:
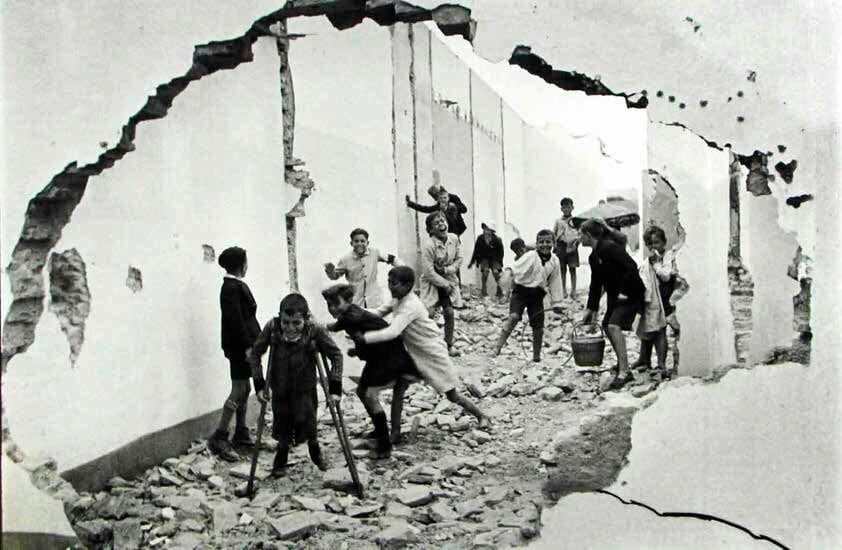
{"label": "rightmost child, in light coat, hand raised to face", "polygon": [[[667,252],[667,236],[664,230],[653,225],[643,233],[643,242],[649,248],[649,261],[640,266],[640,278],[646,287],[643,317],[637,327],[640,337],[640,357],[632,367],[649,367],[652,347],[658,358],[658,370],[664,377],[670,377],[678,368],[678,346],[673,350],[673,371],[667,370],[667,326],[672,327],[673,335],[678,340],[681,325],[675,316],[675,302],[686,290],[679,283],[681,280],[675,263],[675,255]],[[683,282],[683,280],[681,280]],[[686,285],[685,285],[686,286]],[[679,287],[677,289],[677,287]]]}

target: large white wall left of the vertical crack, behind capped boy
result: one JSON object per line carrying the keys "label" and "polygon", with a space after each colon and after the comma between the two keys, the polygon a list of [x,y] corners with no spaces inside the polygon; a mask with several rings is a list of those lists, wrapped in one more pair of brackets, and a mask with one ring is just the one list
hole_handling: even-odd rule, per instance
{"label": "large white wall left of the vertical crack, behind capped boy", "polygon": [[[248,251],[261,322],[287,286],[277,53],[269,39],[254,50],[254,62],[193,82],[166,118],[138,127],[136,151],[91,178],[55,248],[76,248],[87,264],[91,312],[77,365],[45,310],[35,343],[4,376],[9,427],[25,452],[72,468],[222,404],[224,272],[203,262],[202,245]],[[142,272],[137,293],[125,285],[130,265]]]}

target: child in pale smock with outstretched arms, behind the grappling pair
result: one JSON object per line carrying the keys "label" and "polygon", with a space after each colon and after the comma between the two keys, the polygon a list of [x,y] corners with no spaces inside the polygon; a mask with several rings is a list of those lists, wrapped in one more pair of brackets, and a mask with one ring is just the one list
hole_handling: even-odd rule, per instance
{"label": "child in pale smock with outstretched arms, behind the grappling pair", "polygon": [[351,252],[339,260],[338,265],[328,262],[325,274],[332,281],[345,276],[354,287],[354,303],[360,307],[377,307],[383,303],[380,285],[377,284],[377,264],[385,262],[401,265],[394,255],[384,256],[376,248],[368,246],[368,231],[360,227],[351,231]]}

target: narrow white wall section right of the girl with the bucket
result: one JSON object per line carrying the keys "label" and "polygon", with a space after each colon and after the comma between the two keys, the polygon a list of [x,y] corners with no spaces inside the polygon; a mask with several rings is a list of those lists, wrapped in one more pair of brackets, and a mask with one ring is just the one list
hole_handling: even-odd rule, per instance
{"label": "narrow white wall section right of the girl with the bucket", "polygon": [[676,305],[684,335],[680,373],[704,376],[736,360],[727,271],[728,153],[659,123],[649,125],[648,135],[649,166],[675,187],[687,234],[677,256],[690,284]]}

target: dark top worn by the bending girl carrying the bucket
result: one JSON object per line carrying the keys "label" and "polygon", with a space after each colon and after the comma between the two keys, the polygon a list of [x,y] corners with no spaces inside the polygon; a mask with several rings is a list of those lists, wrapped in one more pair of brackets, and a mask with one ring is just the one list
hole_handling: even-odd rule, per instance
{"label": "dark top worn by the bending girl carrying the bucket", "polygon": [[617,296],[625,294],[631,303],[643,303],[646,288],[640,279],[637,264],[628,253],[610,239],[600,239],[588,262],[591,266],[591,288],[588,309],[597,311],[602,291],[608,296],[608,309],[614,309]]}

